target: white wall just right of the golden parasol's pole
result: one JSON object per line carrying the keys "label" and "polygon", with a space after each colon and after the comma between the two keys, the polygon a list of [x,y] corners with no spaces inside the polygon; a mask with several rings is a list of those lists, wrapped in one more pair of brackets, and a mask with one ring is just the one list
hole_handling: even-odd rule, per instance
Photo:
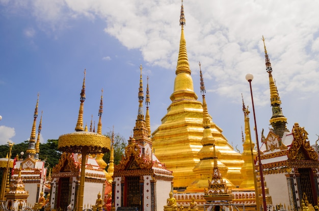
{"label": "white wall just right of the golden parasol's pole", "polygon": [[[90,205],[95,205],[97,199],[97,194],[100,192],[101,198],[103,198],[103,183],[96,182],[85,182],[84,184],[84,198],[83,203]],[[91,208],[91,207],[90,207]]]}

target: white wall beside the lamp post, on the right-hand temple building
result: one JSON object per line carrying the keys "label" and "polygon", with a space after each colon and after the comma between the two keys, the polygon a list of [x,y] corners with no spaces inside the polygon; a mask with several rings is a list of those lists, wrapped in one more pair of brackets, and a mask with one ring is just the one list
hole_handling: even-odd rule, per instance
{"label": "white wall beside the lamp post, on the right-hand temple building", "polygon": [[269,188],[269,194],[272,197],[273,205],[285,204],[288,206],[289,194],[286,176],[282,173],[279,174],[266,174],[264,175],[267,182],[267,188]]}

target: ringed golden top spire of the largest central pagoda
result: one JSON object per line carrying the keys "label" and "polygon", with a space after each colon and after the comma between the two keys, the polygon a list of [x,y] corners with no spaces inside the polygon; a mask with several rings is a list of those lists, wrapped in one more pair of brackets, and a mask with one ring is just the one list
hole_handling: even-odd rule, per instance
{"label": "ringed golden top spire of the largest central pagoda", "polygon": [[179,42],[179,53],[176,66],[176,77],[174,83],[174,92],[171,95],[171,100],[184,98],[187,95],[191,99],[197,99],[194,92],[193,80],[191,77],[191,69],[187,57],[186,40],[184,38],[185,25],[184,7],[181,5],[179,24],[181,25],[181,34]]}

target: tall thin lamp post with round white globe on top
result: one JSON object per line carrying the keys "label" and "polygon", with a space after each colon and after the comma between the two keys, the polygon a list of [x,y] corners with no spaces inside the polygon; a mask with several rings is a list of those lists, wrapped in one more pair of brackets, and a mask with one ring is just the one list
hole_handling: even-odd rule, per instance
{"label": "tall thin lamp post with round white globe on top", "polygon": [[[255,136],[256,136],[257,155],[258,155],[258,165],[259,165],[259,174],[260,174],[260,182],[261,182],[262,205],[263,205],[263,211],[267,211],[266,197],[265,197],[265,190],[264,190],[264,182],[263,182],[262,164],[261,164],[261,160],[260,160],[260,149],[259,149],[259,142],[258,142],[258,133],[257,133],[257,123],[256,123],[256,115],[255,115],[254,98],[253,98],[253,91],[252,91],[252,88],[251,88],[251,82],[252,82],[253,78],[254,78],[253,74],[248,73],[246,75],[246,80],[249,82],[249,87],[250,87],[251,103],[253,105],[253,114],[254,114],[254,123],[255,123]],[[256,193],[256,194],[258,195],[258,193]],[[259,196],[258,196],[258,200],[259,200]]]}

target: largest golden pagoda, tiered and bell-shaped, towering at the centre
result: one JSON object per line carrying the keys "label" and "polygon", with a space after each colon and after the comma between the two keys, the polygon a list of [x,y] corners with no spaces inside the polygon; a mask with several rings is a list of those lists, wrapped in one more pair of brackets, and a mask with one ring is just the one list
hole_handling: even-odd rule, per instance
{"label": "largest golden pagoda, tiered and bell-shaped, towering at the centre", "polygon": [[[200,172],[193,168],[200,162],[198,152],[202,148],[203,139],[203,105],[197,100],[194,92],[191,69],[188,62],[186,41],[184,38],[184,9],[181,5],[179,23],[181,35],[179,55],[176,67],[174,91],[170,96],[172,103],[167,109],[167,114],[162,118],[162,124],[152,133],[153,147],[159,160],[173,171],[174,189],[185,190],[196,179]],[[233,150],[227,139],[222,134],[222,129],[212,122],[210,130],[215,139],[216,153],[221,164],[228,168],[225,177],[239,186],[242,182],[241,167],[242,155]],[[210,168],[207,166],[207,168]]]}

